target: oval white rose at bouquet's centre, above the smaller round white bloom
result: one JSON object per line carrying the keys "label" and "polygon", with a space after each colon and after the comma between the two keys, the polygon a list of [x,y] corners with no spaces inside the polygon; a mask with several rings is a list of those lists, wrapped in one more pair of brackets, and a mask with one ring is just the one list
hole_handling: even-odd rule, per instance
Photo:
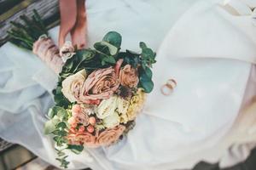
{"label": "oval white rose at bouquet's centre, above the smaller round white bloom", "polygon": [[107,116],[113,115],[117,106],[116,102],[116,96],[112,96],[109,99],[103,99],[101,104],[97,108],[96,116],[100,119],[104,119]]}

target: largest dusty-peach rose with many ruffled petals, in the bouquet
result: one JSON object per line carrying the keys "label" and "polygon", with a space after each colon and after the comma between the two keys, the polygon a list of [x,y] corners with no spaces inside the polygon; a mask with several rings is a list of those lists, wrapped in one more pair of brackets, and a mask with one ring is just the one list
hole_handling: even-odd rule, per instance
{"label": "largest dusty-peach rose with many ruffled petals, in the bouquet", "polygon": [[119,88],[119,79],[112,67],[93,71],[84,82],[79,99],[88,103],[90,100],[108,99]]}

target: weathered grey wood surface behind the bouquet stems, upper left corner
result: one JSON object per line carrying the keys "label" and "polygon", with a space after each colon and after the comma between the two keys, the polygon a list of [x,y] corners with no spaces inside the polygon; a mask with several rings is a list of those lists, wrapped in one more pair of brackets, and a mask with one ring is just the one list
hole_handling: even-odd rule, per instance
{"label": "weathered grey wood surface behind the bouquet stems, upper left corner", "polygon": [[[14,6],[10,7],[11,3],[7,3],[8,1],[12,1]],[[33,9],[38,10],[47,26],[59,23],[58,0],[0,0],[0,45],[8,40],[6,31],[11,27],[9,21],[19,21],[21,14],[31,16]],[[1,10],[4,11],[3,14]]]}

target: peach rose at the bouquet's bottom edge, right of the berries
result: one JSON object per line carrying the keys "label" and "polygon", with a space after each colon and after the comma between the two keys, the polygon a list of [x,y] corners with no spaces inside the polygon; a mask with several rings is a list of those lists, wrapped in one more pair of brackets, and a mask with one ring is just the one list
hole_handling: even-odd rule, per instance
{"label": "peach rose at the bouquet's bottom edge, right of the berries", "polygon": [[118,125],[113,128],[107,128],[105,131],[99,134],[97,137],[97,143],[102,146],[108,146],[116,142],[119,137],[124,133],[125,126]]}

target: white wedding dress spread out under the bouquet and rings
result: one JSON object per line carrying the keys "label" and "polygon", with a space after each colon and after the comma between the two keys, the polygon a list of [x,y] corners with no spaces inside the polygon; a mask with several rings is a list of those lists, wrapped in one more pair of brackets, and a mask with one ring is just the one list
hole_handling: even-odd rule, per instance
{"label": "white wedding dress spread out under the bouquet and rings", "polygon": [[[247,4],[256,6],[256,0],[238,1],[235,9],[241,14]],[[158,55],[154,91],[137,126],[118,144],[70,153],[70,168],[169,170],[191,168],[201,160],[227,167],[248,156],[256,145],[256,107],[251,105],[256,26],[250,13],[230,14],[222,2],[86,1],[89,46],[106,32],[119,31],[123,49],[137,51],[143,41]],[[57,32],[58,27],[50,30],[55,40]],[[43,133],[56,75],[9,42],[0,56],[0,137],[58,166],[54,144]],[[177,88],[165,96],[160,87],[169,78]]]}

